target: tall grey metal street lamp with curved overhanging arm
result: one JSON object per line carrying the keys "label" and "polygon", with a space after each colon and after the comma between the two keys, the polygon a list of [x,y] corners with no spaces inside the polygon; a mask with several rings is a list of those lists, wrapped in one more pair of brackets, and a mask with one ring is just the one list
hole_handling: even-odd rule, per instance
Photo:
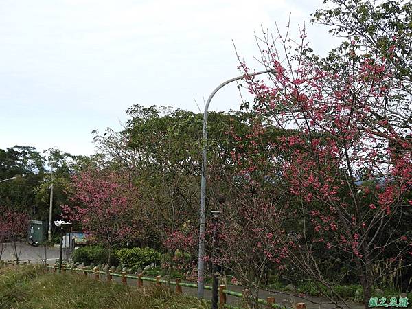
{"label": "tall grey metal street lamp with curved overhanging arm", "polygon": [[[249,76],[257,76],[264,73],[273,73],[273,69],[259,71],[249,74]],[[199,215],[199,250],[198,250],[198,298],[203,298],[204,295],[204,277],[205,277],[205,209],[206,209],[206,173],[207,173],[207,116],[209,105],[214,95],[227,84],[236,80],[241,80],[244,75],[236,78],[231,78],[226,82],[218,85],[214,91],[209,95],[203,112],[203,139],[202,139],[202,178],[201,178],[201,206]]]}

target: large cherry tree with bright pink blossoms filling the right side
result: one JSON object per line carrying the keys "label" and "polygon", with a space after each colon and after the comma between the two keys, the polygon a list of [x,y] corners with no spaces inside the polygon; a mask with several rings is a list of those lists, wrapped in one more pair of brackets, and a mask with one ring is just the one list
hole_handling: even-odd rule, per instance
{"label": "large cherry tree with bright pink blossoms filling the right side", "polygon": [[[243,62],[240,68],[255,95],[255,111],[266,123],[295,130],[277,137],[271,155],[277,161],[280,150],[288,157],[281,179],[304,226],[301,240],[284,253],[330,289],[336,306],[349,308],[337,303],[342,299],[316,257],[330,251],[345,261],[366,301],[382,277],[412,263],[411,235],[400,229],[412,205],[412,130],[399,120],[410,117],[410,102],[394,85],[397,67],[389,59],[396,48],[382,56],[353,38],[346,52],[320,60],[304,30],[299,42],[279,32],[263,36],[262,63],[273,75],[258,80]],[[277,170],[273,175],[279,176]]]}

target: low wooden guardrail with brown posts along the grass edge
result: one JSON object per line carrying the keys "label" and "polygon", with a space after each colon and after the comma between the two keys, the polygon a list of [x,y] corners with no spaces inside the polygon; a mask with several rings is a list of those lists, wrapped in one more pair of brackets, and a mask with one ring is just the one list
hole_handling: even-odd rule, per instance
{"label": "low wooden guardrail with brown posts along the grass edge", "polygon": [[[4,264],[12,264],[12,265],[17,265],[19,266],[20,263],[16,262],[4,262],[1,261],[1,265],[3,266]],[[23,263],[27,264],[27,263]],[[46,271],[48,272],[49,270],[52,271],[52,273],[57,273],[58,271],[58,266],[51,266],[49,264],[46,264]],[[67,266],[62,266],[62,273],[66,273],[67,271],[71,271],[71,273],[80,273],[84,277],[87,277],[87,274],[90,273],[92,277],[96,281],[100,281],[100,275],[105,275],[106,276],[106,281],[112,282],[113,277],[119,277],[122,278],[122,284],[123,285],[128,285],[128,279],[135,279],[137,284],[137,288],[143,288],[143,282],[152,282],[153,284],[156,284],[156,286],[161,286],[162,284],[171,284],[172,286],[176,286],[175,291],[178,294],[183,293],[182,287],[187,287],[187,288],[197,288],[196,284],[190,284],[187,282],[182,282],[181,279],[176,279],[176,281],[166,281],[164,279],[161,279],[161,276],[156,276],[155,278],[152,277],[144,277],[143,274],[139,273],[136,276],[135,275],[128,275],[126,272],[122,273],[110,273],[110,272],[104,272],[100,271],[98,267],[95,267],[93,269],[88,269],[86,267],[82,268],[74,268],[73,266],[67,267]],[[205,286],[205,290],[211,290],[211,286]],[[232,290],[227,290],[225,284],[220,284],[219,286],[219,308],[236,308],[234,306],[230,306],[227,304],[227,295],[231,295],[234,297],[245,297],[247,296],[247,290],[244,291],[244,293],[238,293],[234,292]],[[275,297],[273,296],[268,296],[266,299],[258,299],[258,302],[260,304],[266,304],[266,308],[279,308],[279,309],[290,309],[288,307],[279,305],[275,303]],[[306,309],[306,304],[305,303],[298,303],[296,304],[296,309]]]}

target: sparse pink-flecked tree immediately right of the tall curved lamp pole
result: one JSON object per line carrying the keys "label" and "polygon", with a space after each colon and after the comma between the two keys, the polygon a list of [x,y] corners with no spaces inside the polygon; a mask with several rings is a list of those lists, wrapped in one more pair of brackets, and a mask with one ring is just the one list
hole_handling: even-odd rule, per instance
{"label": "sparse pink-flecked tree immediately right of the tall curved lamp pole", "polygon": [[249,290],[248,308],[258,308],[260,288],[271,268],[282,268],[286,258],[282,241],[293,225],[281,172],[282,153],[275,154],[271,139],[283,133],[262,124],[249,114],[241,126],[227,130],[229,156],[209,167],[210,190],[207,222],[207,260],[229,271],[234,281]]}

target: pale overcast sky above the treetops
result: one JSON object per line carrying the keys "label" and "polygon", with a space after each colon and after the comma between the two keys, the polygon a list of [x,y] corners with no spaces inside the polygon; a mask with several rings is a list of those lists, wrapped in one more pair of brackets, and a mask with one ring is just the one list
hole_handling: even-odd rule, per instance
{"label": "pale overcast sky above the treetops", "polygon": [[[233,49],[262,69],[254,32],[261,25],[298,35],[312,48],[336,45],[309,26],[323,0],[1,0],[0,148],[58,147],[93,153],[91,131],[121,128],[133,104],[198,111],[220,82],[238,76]],[[211,110],[238,108],[236,84]]]}

